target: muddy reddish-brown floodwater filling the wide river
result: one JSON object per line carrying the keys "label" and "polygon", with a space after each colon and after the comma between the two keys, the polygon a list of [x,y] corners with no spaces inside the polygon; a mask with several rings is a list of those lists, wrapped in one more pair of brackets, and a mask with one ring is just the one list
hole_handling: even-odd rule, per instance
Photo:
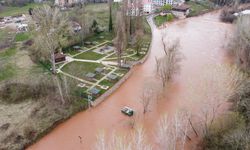
{"label": "muddy reddish-brown floodwater filling the wide river", "polygon": [[[110,134],[114,131],[126,132],[130,130],[129,124],[132,119],[120,112],[120,109],[125,105],[135,109],[137,119],[143,120],[147,134],[153,137],[159,116],[163,113],[168,113],[171,116],[173,112],[183,107],[182,104],[186,104],[184,102],[188,91],[186,85],[190,82],[203,84],[202,78],[199,81],[196,79],[201,70],[204,70],[204,66],[225,63],[223,45],[227,40],[226,35],[231,33],[233,27],[230,24],[221,23],[218,16],[218,12],[212,12],[167,24],[164,29],[157,29],[152,25],[152,49],[147,61],[136,66],[131,77],[100,105],[76,114],[28,149],[93,149],[99,132],[105,131]],[[184,56],[181,62],[181,71],[175,76],[167,92],[164,93],[165,97],[152,104],[150,111],[143,116],[140,100],[142,90],[150,86],[150,82],[156,78],[155,57],[164,55],[161,43],[162,35],[165,36],[167,43],[179,39],[180,51]],[[193,105],[197,104],[189,103],[186,106],[192,108]]]}

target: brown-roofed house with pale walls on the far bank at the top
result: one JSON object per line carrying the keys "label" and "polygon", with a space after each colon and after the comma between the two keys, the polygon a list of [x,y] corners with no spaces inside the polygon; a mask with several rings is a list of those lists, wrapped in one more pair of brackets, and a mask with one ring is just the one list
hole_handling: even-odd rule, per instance
{"label": "brown-roofed house with pale walls on the far bank at the top", "polygon": [[186,4],[173,6],[172,13],[178,18],[185,18],[190,12],[190,6]]}

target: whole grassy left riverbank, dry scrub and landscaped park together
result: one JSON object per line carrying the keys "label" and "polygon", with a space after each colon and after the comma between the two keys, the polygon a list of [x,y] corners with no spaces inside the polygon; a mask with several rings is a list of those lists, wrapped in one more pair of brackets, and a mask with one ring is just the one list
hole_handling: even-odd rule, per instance
{"label": "whole grassy left riverbank, dry scrub and landscaped park together", "polygon": [[[79,8],[69,8],[61,13],[74,21],[85,17],[90,27],[95,20],[100,30],[92,30],[84,37],[76,32],[62,38],[60,57],[64,58],[56,63],[57,72],[53,74],[49,60],[32,55],[39,54],[32,53],[38,49],[34,46],[37,36],[29,30],[18,32],[13,17],[25,14],[28,18],[29,8],[40,6],[5,6],[0,11],[0,18],[8,16],[12,20],[0,29],[0,149],[23,149],[59,123],[86,110],[88,104],[112,93],[149,50],[151,29],[143,18],[146,33],[139,46],[128,44],[121,54],[120,67],[115,33],[108,32],[108,5],[88,4],[84,16],[79,15]],[[24,23],[29,25],[27,18]],[[115,27],[115,9],[113,19]]]}

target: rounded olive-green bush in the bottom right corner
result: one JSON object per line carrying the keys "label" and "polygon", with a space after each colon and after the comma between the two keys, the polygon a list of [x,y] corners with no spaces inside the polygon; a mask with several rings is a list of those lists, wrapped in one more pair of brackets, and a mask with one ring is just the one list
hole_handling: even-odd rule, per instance
{"label": "rounded olive-green bush in the bottom right corner", "polygon": [[241,115],[231,113],[217,119],[205,138],[203,149],[205,150],[245,150],[249,142],[246,137],[249,133]]}

